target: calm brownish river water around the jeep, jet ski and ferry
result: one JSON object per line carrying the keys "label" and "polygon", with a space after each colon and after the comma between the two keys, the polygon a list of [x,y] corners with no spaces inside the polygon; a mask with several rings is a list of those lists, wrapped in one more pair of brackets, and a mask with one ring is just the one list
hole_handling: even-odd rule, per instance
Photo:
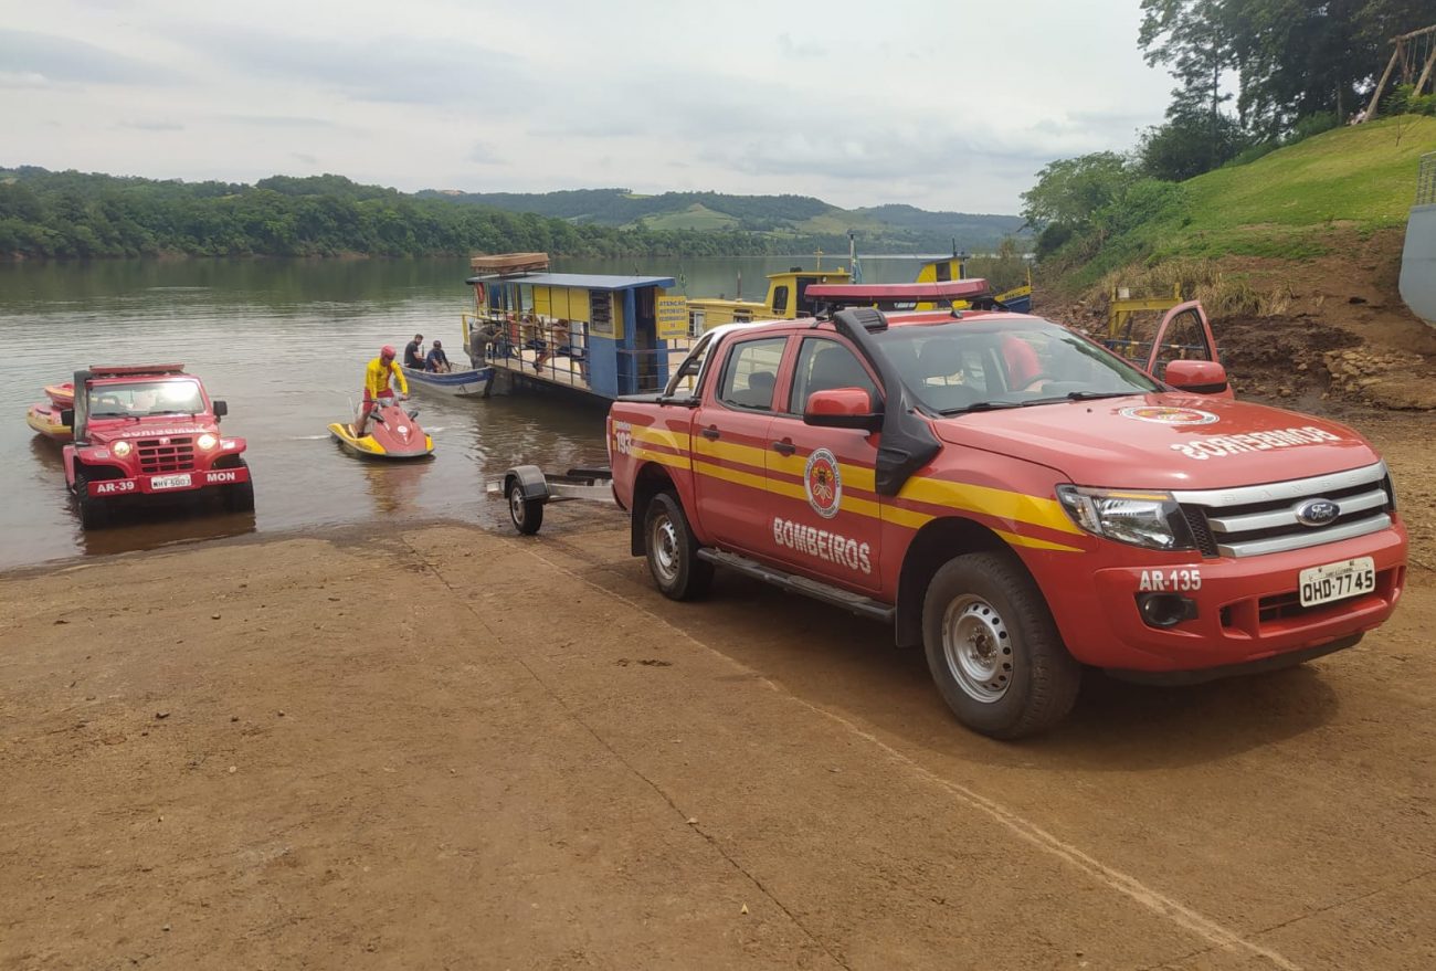
{"label": "calm brownish river water around the jeep, jet ski and ferry", "polygon": [[[844,261],[824,259],[824,266]],[[672,276],[689,296],[763,299],[764,274],[813,257],[560,260],[563,273]],[[870,282],[905,282],[916,259],[864,257]],[[602,408],[540,395],[468,401],[414,391],[435,455],[372,464],[326,425],[350,417],[365,362],[415,333],[460,352],[472,293],[467,260],[115,260],[0,264],[0,569],[253,530],[454,517],[498,524],[485,480],[518,463],[603,464]],[[451,353],[457,362],[462,353]],[[151,510],[85,533],[59,447],[24,424],[43,386],[89,365],[184,362],[230,404],[224,429],[248,440],[254,516]],[[411,389],[412,391],[412,389]]]}

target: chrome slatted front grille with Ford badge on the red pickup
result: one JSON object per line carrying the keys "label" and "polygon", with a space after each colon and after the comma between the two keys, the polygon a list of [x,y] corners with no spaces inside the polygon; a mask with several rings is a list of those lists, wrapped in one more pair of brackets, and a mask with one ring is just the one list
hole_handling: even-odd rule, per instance
{"label": "chrome slatted front grille with Ford badge on the red pickup", "polygon": [[[1396,497],[1386,463],[1268,486],[1173,493],[1202,556],[1261,556],[1335,543],[1390,527]],[[1335,503],[1337,516],[1307,526],[1307,500]]]}

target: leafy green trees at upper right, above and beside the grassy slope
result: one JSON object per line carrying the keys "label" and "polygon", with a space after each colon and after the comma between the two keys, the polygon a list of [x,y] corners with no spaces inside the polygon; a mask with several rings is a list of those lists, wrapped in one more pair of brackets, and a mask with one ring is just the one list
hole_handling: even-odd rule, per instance
{"label": "leafy green trees at upper right, above and beside the grassy slope", "polygon": [[[1137,46],[1176,86],[1130,152],[1044,167],[1022,194],[1037,256],[1081,263],[1183,204],[1179,182],[1364,116],[1390,42],[1436,23],[1432,0],[1142,0]],[[1394,86],[1377,113],[1436,113]]]}

